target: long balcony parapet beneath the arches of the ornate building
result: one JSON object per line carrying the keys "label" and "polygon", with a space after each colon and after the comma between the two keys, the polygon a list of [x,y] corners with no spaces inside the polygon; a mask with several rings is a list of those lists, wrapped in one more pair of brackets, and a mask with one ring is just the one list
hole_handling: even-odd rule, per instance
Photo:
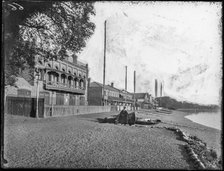
{"label": "long balcony parapet beneath the arches of the ornate building", "polygon": [[74,86],[74,85],[69,85],[69,84],[64,84],[64,83],[59,83],[59,82],[49,82],[48,81],[45,83],[45,89],[72,92],[72,93],[77,93],[80,95],[85,94],[85,87]]}

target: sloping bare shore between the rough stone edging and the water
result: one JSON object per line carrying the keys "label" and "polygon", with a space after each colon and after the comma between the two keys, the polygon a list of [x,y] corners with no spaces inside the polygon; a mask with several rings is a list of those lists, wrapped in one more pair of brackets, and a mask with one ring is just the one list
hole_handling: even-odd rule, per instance
{"label": "sloping bare shore between the rough stone edging and the water", "polygon": [[141,110],[136,113],[137,117],[160,119],[161,124],[158,127],[169,126],[177,127],[189,135],[197,136],[199,139],[207,143],[207,146],[217,151],[218,156],[221,155],[221,131],[211,127],[207,127],[195,123],[185,116],[191,113],[181,111],[173,111],[172,114],[158,113],[153,110]]}

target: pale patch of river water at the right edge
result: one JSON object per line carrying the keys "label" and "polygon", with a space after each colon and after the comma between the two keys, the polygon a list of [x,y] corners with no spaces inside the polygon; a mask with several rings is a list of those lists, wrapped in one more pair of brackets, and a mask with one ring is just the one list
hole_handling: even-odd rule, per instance
{"label": "pale patch of river water at the right edge", "polygon": [[221,130],[222,125],[221,112],[218,113],[201,112],[187,115],[185,116],[185,118],[190,119],[191,121],[196,122],[198,124]]}

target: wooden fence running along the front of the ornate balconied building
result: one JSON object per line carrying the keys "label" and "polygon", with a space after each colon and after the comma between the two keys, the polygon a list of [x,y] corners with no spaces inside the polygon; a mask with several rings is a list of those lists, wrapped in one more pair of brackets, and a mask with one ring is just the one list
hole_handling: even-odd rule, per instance
{"label": "wooden fence running along the front of the ornate balconied building", "polygon": [[[11,115],[37,117],[36,102],[37,102],[36,98],[7,96],[5,111],[7,114]],[[44,98],[39,98],[38,106],[39,106],[38,108],[39,118],[117,111],[116,106],[69,106],[69,105],[51,106],[44,104]]]}

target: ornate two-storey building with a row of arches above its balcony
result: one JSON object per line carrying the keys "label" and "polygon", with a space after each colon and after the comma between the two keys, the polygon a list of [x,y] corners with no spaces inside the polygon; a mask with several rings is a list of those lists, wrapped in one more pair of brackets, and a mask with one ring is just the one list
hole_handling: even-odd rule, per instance
{"label": "ornate two-storey building with a row of arches above its balcony", "polygon": [[53,104],[85,105],[87,103],[88,65],[78,62],[76,56],[68,57],[64,61],[50,61],[44,65],[43,59],[37,59],[36,67],[40,68],[42,74],[40,77],[43,81],[42,88],[50,93],[49,98],[53,100]]}

